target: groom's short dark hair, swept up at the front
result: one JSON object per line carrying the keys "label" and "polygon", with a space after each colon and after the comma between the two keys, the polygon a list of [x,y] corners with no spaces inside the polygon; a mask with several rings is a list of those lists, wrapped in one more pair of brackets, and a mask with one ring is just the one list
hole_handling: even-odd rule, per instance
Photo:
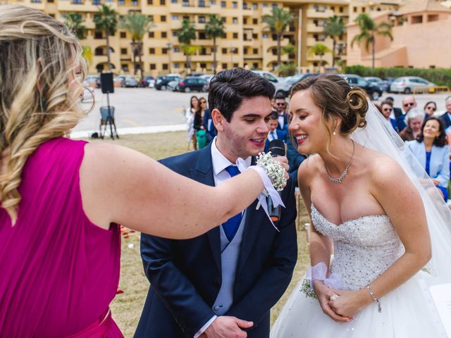
{"label": "groom's short dark hair, swept up at the front", "polygon": [[209,108],[218,109],[228,122],[242,100],[254,96],[272,99],[276,88],[271,82],[251,70],[234,68],[216,74],[210,82]]}

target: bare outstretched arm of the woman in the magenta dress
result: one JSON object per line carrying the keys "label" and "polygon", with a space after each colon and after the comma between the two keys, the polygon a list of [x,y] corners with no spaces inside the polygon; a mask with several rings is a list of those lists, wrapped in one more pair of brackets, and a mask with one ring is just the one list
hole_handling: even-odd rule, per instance
{"label": "bare outstretched arm of the woman in the magenta dress", "polygon": [[255,170],[209,187],[110,144],[87,144],[80,167],[83,208],[93,223],[105,229],[118,223],[173,239],[197,237],[225,222],[263,189]]}

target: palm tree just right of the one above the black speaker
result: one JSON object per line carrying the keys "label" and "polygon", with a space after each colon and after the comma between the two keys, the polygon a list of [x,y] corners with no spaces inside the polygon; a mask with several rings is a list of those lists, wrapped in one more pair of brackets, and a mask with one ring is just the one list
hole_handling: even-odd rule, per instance
{"label": "palm tree just right of the one above the black speaker", "polygon": [[[146,35],[149,30],[154,28],[156,25],[152,22],[152,20],[144,14],[140,13],[128,13],[125,15],[123,22],[120,25],[122,28],[127,30],[130,35],[132,35],[132,46],[133,46],[133,68],[136,74],[136,62],[135,56],[138,54],[140,59],[140,73],[141,73],[141,81],[144,78],[142,74],[142,40],[144,39],[144,35]],[[135,49],[135,45],[137,48]]]}

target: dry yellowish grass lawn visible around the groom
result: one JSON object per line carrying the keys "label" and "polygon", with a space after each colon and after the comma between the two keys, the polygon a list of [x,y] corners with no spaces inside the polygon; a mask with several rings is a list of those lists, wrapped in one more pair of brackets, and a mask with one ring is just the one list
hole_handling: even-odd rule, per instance
{"label": "dry yellowish grass lawn visible around the groom", "polygon": [[[158,160],[168,156],[183,154],[187,151],[186,132],[164,132],[158,134],[138,134],[138,135],[120,135],[120,139],[103,141],[90,140],[90,142],[109,142],[127,146],[128,148],[151,156]],[[288,299],[293,287],[304,274],[307,265],[309,265],[309,255],[307,248],[306,232],[304,223],[307,223],[307,212],[302,201],[299,203],[298,222],[300,229],[297,232],[297,243],[299,248],[297,265],[292,281],[283,297],[276,303],[271,311],[271,323],[276,320],[278,313],[283,308],[283,304]],[[132,232],[125,234],[122,238],[121,253],[121,280],[119,288],[123,294],[118,294],[111,303],[113,318],[121,328],[125,337],[132,337],[135,333],[138,320],[140,319],[142,306],[147,296],[149,282],[144,275],[140,258],[140,234]],[[156,323],[157,325],[157,323]]]}

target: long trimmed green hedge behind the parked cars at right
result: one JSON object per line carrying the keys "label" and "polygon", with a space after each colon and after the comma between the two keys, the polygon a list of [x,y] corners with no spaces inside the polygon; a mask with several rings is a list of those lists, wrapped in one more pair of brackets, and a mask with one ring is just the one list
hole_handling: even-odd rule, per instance
{"label": "long trimmed green hedge behind the parked cars at right", "polygon": [[438,86],[451,86],[451,69],[448,68],[370,68],[363,65],[343,67],[343,73],[360,76],[387,77],[419,76]]}

